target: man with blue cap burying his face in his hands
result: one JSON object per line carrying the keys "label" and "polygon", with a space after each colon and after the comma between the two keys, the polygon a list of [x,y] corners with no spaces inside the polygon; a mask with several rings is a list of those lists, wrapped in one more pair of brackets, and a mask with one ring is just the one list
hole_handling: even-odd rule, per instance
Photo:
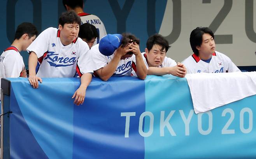
{"label": "man with blue cap burying his face in his hands", "polygon": [[127,33],[103,37],[90,50],[95,73],[103,81],[107,81],[111,76],[131,76],[132,69],[135,69],[138,78],[145,79],[147,67],[142,59],[139,43],[139,39]]}

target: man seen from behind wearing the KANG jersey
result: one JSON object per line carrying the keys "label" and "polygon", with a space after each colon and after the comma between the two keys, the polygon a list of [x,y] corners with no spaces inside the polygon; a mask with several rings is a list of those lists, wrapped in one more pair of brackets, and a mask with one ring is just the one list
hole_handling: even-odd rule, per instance
{"label": "man seen from behind wearing the KANG jersey", "polygon": [[105,26],[99,17],[84,12],[83,0],[62,0],[62,3],[67,11],[74,10],[80,17],[82,24],[89,23],[96,27],[100,38],[96,38],[93,45],[100,42],[100,39],[107,35]]}

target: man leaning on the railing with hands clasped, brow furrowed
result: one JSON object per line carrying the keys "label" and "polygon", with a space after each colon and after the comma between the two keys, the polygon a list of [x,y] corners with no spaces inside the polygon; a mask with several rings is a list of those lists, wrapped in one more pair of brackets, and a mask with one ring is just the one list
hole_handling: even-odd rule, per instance
{"label": "man leaning on the railing with hands clasped, brow furrowed", "polygon": [[[142,57],[149,67],[148,75],[172,74],[181,78],[186,75],[186,67],[183,64],[166,57],[169,48],[168,41],[160,34],[155,34],[147,39],[147,48],[142,53]],[[132,72],[132,74],[134,73]]]}

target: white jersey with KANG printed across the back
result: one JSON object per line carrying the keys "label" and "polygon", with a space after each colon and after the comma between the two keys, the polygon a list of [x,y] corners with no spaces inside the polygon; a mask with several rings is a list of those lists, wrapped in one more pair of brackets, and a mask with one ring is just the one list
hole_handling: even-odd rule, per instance
{"label": "white jersey with KANG printed across the back", "polygon": [[[94,25],[96,27],[100,39],[103,36],[107,35],[105,26],[104,26],[103,22],[100,20],[99,17],[97,17],[97,16],[95,16],[93,14],[88,14],[88,13],[79,13],[78,15],[81,18],[82,24],[88,22],[89,24],[92,24],[92,25]],[[96,45],[97,43],[99,43],[100,39],[96,38],[96,40],[95,40],[93,45]]]}

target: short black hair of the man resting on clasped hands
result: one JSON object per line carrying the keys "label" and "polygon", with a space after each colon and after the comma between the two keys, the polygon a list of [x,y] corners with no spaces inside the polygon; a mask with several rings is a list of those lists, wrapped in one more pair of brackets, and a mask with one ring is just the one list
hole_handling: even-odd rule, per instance
{"label": "short black hair of the man resting on clasped hands", "polygon": [[160,34],[154,34],[154,35],[150,36],[147,39],[146,47],[150,51],[155,44],[160,45],[162,47],[161,51],[163,51],[165,49],[165,53],[170,48],[169,42]]}

